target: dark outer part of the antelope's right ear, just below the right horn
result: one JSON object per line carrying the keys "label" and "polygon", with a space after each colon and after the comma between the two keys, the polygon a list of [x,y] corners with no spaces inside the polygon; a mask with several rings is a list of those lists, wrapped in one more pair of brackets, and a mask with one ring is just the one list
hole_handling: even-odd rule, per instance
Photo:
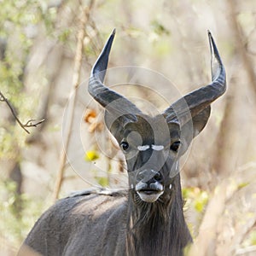
{"label": "dark outer part of the antelope's right ear, just below the right horn", "polygon": [[202,110],[192,118],[193,123],[193,137],[196,137],[207,125],[207,121],[210,117],[211,106]]}

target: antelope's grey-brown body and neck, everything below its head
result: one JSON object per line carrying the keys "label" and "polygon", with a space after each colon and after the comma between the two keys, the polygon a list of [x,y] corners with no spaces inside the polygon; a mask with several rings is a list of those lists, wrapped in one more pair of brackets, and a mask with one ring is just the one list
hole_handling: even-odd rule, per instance
{"label": "antelope's grey-brown body and neck, everything below its head", "polygon": [[178,179],[180,198],[168,205],[135,207],[123,193],[64,198],[44,212],[25,244],[43,255],[181,255],[191,237]]}

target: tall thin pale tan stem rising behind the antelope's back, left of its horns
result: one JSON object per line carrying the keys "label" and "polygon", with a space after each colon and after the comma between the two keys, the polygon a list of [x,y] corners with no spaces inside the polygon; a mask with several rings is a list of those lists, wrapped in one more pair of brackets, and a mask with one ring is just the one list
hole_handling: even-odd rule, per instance
{"label": "tall thin pale tan stem rising behind the antelope's back, left of its horns", "polygon": [[[80,19],[80,24],[79,24],[78,43],[77,43],[77,49],[76,49],[76,55],[74,60],[74,67],[73,67],[73,89],[70,92],[70,95],[73,95],[73,97],[70,97],[71,99],[73,99],[73,102],[71,102],[72,104],[71,115],[67,125],[66,141],[64,143],[64,148],[61,153],[60,168],[57,172],[57,177],[55,180],[55,187],[53,191],[53,201],[55,201],[59,197],[61,184],[63,181],[64,169],[65,169],[65,164],[67,160],[66,153],[69,146],[71,131],[73,127],[74,108],[75,108],[75,102],[77,98],[77,89],[79,87],[79,80],[80,80],[80,70],[82,65],[82,53],[83,53],[83,44],[84,44],[84,35],[85,35],[84,26],[86,25],[87,21],[90,19],[90,12],[94,2],[95,2],[94,0],[90,0],[89,6],[86,6],[81,10],[82,17]],[[82,3],[80,4],[82,6]]]}

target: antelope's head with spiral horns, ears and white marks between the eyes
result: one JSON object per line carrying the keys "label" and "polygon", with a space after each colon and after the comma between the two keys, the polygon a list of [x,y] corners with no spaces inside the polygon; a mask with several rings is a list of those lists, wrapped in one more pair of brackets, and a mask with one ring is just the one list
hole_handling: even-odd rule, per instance
{"label": "antelope's head with spiral horns, ears and white marks between the eyes", "polygon": [[226,90],[224,66],[208,32],[212,83],[190,92],[152,117],[103,84],[114,34],[115,31],[92,68],[89,92],[105,108],[108,130],[125,154],[130,189],[137,199],[152,203],[163,196],[171,197],[175,190],[180,156],[207,124],[210,104]]}

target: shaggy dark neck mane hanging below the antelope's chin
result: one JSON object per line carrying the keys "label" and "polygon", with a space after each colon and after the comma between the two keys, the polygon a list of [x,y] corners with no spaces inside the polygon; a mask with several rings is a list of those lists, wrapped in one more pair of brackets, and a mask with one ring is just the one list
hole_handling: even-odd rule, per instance
{"label": "shaggy dark neck mane hanging below the antelope's chin", "polygon": [[183,218],[179,177],[158,201],[141,201],[131,190],[128,203],[128,255],[183,255],[191,236]]}

